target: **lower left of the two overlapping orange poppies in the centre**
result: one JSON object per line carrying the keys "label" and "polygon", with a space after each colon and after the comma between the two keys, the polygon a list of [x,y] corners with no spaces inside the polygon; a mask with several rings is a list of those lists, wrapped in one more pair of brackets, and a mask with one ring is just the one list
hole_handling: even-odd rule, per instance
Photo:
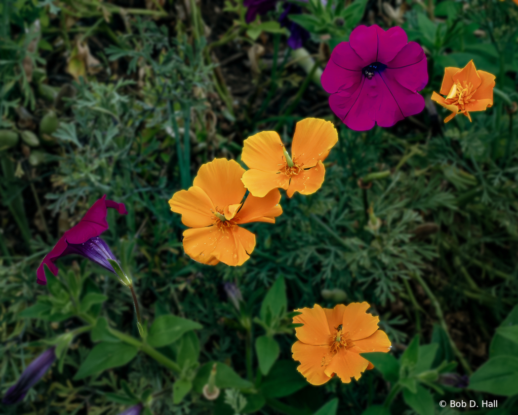
{"label": "lower left of the two overlapping orange poppies in the centre", "polygon": [[171,210],[189,226],[183,232],[183,249],[202,264],[242,265],[255,247],[255,235],[238,226],[249,222],[275,223],[282,213],[281,194],[272,190],[265,197],[247,192],[241,182],[244,169],[234,160],[214,159],[204,164],[193,187],[172,195]]}

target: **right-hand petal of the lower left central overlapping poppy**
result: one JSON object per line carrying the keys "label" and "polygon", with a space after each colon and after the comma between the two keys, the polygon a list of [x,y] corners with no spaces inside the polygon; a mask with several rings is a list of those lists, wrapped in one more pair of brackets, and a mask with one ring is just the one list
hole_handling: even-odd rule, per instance
{"label": "right-hand petal of the lower left central overlapping poppy", "polygon": [[249,194],[234,220],[237,223],[275,223],[275,218],[282,213],[280,200],[281,194],[277,189],[270,191],[265,197],[255,197]]}

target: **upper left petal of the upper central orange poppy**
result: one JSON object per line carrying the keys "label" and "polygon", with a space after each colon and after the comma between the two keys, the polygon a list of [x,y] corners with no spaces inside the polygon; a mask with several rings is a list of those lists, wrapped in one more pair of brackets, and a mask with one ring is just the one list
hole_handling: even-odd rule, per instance
{"label": "upper left petal of the upper central orange poppy", "polygon": [[282,141],[275,131],[263,131],[243,141],[241,160],[249,168],[274,171],[286,164]]}

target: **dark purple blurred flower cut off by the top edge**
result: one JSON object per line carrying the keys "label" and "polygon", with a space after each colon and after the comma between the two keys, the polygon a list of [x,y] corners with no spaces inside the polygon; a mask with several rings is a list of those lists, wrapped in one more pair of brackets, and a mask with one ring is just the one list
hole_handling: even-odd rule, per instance
{"label": "dark purple blurred flower cut off by the top edge", "polygon": [[[278,0],[244,0],[243,5],[248,7],[245,20],[247,23],[253,22],[257,15],[264,15],[270,10],[274,10]],[[302,12],[302,9],[292,3],[284,2],[279,23],[281,27],[287,27],[290,31],[288,46],[292,49],[301,48],[306,40],[309,39],[309,32],[302,26],[292,22],[288,15],[295,15]]]}

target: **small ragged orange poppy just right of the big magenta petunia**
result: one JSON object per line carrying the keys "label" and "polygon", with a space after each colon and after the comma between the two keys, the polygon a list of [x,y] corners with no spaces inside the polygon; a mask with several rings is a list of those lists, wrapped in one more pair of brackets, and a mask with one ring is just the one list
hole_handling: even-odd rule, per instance
{"label": "small ragged orange poppy just right of the big magenta petunia", "polygon": [[495,76],[483,70],[477,70],[473,61],[460,68],[444,68],[441,94],[431,95],[431,99],[453,111],[444,122],[450,121],[462,112],[471,121],[469,111],[484,111],[493,105],[493,88]]}

